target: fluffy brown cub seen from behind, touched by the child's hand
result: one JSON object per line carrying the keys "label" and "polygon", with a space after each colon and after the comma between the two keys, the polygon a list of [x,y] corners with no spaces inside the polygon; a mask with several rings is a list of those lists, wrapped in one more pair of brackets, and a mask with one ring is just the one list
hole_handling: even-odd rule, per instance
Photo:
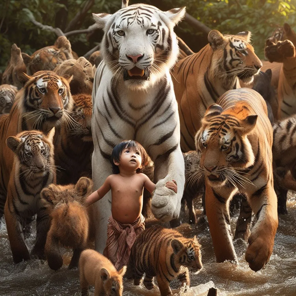
{"label": "fluffy brown cub seen from behind, touched by the child's hand", "polygon": [[81,251],[94,240],[93,207],[83,205],[92,189],[92,180],[81,177],[77,184],[51,185],[41,191],[41,200],[52,218],[45,244],[45,255],[51,269],[58,270],[63,265],[59,242],[73,249],[71,269],[78,266]]}

